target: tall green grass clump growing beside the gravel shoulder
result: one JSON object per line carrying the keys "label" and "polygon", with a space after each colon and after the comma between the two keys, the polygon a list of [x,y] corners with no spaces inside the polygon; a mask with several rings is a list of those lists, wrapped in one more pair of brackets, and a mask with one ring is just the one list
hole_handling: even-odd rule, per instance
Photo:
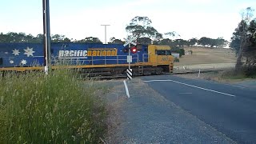
{"label": "tall green grass clump growing beside the gravel shoulder", "polygon": [[91,81],[70,70],[0,78],[1,143],[98,143],[106,106]]}

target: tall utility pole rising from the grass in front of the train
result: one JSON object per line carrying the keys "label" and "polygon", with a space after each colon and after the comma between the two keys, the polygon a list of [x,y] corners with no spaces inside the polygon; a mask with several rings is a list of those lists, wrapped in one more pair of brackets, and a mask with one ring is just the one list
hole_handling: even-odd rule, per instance
{"label": "tall utility pole rising from the grass in front of the train", "polygon": [[45,73],[51,70],[50,66],[50,10],[49,0],[42,0],[43,15],[43,46],[44,46],[44,66]]}

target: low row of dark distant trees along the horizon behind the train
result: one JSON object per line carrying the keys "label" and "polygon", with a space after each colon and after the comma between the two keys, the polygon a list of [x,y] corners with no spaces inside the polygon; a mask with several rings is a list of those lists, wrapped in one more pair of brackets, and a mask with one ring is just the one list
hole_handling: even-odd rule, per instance
{"label": "low row of dark distant trees along the horizon behind the train", "polygon": [[[7,34],[0,33],[0,42],[9,43],[9,42],[29,42],[29,43],[42,43],[43,35],[38,34],[37,36],[33,36],[32,34],[25,33],[15,33],[9,32]],[[66,38],[65,35],[62,34],[53,34],[51,35],[51,42],[79,42],[79,43],[102,43],[99,38],[94,37],[86,37],[81,40],[74,40],[73,38]],[[117,38],[110,38],[110,44],[123,44],[125,41]],[[158,44],[158,45],[169,45],[172,47],[178,46],[206,46],[206,47],[223,47],[227,45],[227,41],[223,38],[191,38],[189,40],[184,40],[182,38],[170,39],[170,38],[162,38],[157,41],[152,41],[151,38],[142,37],[138,38],[139,44],[149,45],[149,44]]]}

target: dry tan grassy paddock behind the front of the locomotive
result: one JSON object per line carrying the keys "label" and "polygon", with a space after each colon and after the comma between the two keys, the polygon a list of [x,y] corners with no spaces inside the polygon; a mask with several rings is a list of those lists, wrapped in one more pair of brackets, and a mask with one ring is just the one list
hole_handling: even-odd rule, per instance
{"label": "dry tan grassy paddock behind the front of the locomotive", "polygon": [[193,54],[183,55],[175,66],[213,64],[213,63],[234,63],[235,54],[230,49],[223,48],[202,48],[202,47],[185,47],[185,51],[192,50]]}

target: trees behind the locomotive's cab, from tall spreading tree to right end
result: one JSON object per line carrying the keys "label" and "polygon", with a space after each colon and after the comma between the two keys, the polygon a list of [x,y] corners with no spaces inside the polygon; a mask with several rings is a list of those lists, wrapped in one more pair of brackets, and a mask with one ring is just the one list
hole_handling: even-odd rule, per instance
{"label": "trees behind the locomotive's cab, from tall spreading tree to right end", "polygon": [[[206,47],[223,47],[228,42],[223,38],[207,38],[202,37],[200,39],[190,38],[184,40],[177,38],[180,35],[175,31],[166,32],[161,34],[153,26],[152,21],[148,17],[134,17],[130,23],[126,26],[126,31],[130,36],[138,38],[138,43],[141,44],[160,44],[169,45],[171,47],[182,47],[182,46],[206,46]],[[168,38],[169,37],[169,38]],[[119,40],[118,40],[119,41]]]}

